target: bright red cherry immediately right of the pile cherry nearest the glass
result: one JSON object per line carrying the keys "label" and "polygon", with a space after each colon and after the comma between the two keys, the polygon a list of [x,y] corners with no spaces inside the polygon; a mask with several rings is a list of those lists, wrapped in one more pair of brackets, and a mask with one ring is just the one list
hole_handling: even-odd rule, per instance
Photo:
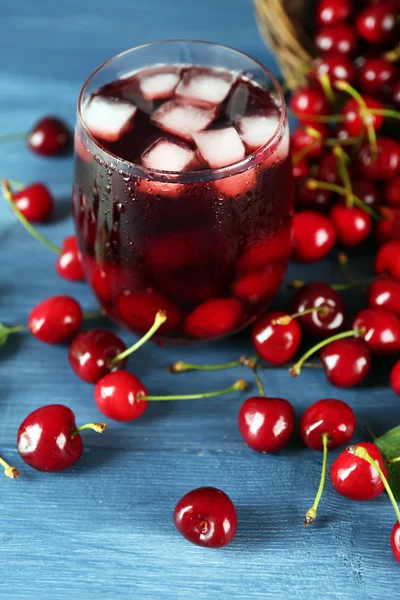
{"label": "bright red cherry immediately right of the pile cherry nearest the glass", "polygon": [[335,226],[338,242],[345,248],[359,246],[371,233],[371,217],[357,206],[335,204],[329,213],[329,218]]}

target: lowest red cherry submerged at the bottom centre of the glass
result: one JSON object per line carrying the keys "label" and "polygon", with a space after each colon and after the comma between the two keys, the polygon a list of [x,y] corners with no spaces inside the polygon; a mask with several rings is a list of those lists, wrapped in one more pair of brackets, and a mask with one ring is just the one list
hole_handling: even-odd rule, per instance
{"label": "lowest red cherry submerged at the bottom centre of the glass", "polygon": [[234,331],[242,317],[242,303],[235,298],[207,300],[186,317],[185,330],[192,337],[219,337]]}

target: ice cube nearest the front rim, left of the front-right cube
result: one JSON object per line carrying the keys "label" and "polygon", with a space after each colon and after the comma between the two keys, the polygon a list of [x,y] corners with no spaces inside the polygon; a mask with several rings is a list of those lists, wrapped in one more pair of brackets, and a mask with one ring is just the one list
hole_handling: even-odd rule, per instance
{"label": "ice cube nearest the front rim, left of the front-right cube", "polygon": [[186,144],[160,138],[142,154],[142,165],[159,171],[184,171],[195,157]]}

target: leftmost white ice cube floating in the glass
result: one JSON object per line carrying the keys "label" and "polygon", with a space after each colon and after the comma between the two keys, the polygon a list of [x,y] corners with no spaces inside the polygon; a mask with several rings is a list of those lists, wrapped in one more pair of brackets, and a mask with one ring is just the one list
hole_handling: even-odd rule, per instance
{"label": "leftmost white ice cube floating in the glass", "polygon": [[82,116],[94,136],[116,142],[131,127],[136,111],[136,106],[127,100],[93,96],[85,104]]}

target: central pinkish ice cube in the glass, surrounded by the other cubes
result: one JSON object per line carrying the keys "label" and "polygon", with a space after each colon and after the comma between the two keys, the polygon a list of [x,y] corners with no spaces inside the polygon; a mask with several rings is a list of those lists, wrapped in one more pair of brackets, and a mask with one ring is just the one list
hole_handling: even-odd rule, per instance
{"label": "central pinkish ice cube in the glass, surrounded by the other cubes", "polygon": [[194,133],[206,129],[214,120],[215,115],[215,108],[200,108],[170,100],[157,108],[152,114],[151,120],[160,129],[190,140]]}

